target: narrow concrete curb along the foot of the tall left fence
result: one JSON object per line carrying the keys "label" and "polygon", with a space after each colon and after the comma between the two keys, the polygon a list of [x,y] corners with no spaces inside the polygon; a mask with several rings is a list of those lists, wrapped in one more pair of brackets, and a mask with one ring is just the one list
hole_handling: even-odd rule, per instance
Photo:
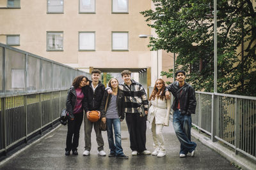
{"label": "narrow concrete curb along the foot of the tall left fence", "polygon": [[24,148],[20,149],[19,151],[13,153],[13,155],[11,155],[10,157],[7,157],[6,159],[2,160],[0,162],[0,166],[2,166],[5,162],[8,162],[8,160],[12,159],[13,157],[16,157],[17,155],[19,155],[21,152],[24,152],[24,150],[30,148],[30,146],[35,145],[36,143],[38,143],[39,141],[41,141],[42,139],[46,138],[49,134],[51,134],[52,132],[56,131],[57,129],[59,129],[61,127],[61,124],[54,127],[54,129],[52,129],[50,132],[47,132],[46,134],[44,134],[44,136],[42,136],[39,139],[36,139],[35,141],[33,141],[32,143],[29,143],[27,146],[25,146]]}

